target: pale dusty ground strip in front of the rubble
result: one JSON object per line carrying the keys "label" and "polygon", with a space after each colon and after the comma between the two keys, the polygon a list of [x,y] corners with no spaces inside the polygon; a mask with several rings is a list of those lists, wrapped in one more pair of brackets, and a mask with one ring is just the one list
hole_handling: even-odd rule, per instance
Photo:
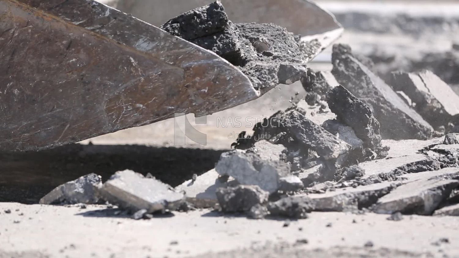
{"label": "pale dusty ground strip in front of the rubble", "polygon": [[458,217],[317,212],[284,226],[209,210],[132,220],[104,209],[1,203],[0,257],[459,256]]}

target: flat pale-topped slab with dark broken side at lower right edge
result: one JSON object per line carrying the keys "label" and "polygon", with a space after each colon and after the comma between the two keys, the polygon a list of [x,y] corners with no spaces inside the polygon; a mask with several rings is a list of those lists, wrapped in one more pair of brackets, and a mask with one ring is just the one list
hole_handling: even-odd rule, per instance
{"label": "flat pale-topped slab with dark broken side at lower right edge", "polygon": [[424,178],[409,182],[378,200],[372,210],[375,213],[431,215],[451,191],[459,186],[458,180]]}

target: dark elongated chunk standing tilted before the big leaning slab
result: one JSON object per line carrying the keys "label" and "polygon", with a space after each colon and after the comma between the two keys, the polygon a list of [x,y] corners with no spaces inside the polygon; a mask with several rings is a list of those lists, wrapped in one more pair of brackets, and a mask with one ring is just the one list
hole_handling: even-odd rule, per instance
{"label": "dark elongated chunk standing tilted before the big leaning slab", "polygon": [[336,119],[351,126],[355,135],[363,140],[365,148],[373,150],[379,157],[386,155],[381,144],[380,124],[364,102],[338,85],[327,92],[327,103]]}

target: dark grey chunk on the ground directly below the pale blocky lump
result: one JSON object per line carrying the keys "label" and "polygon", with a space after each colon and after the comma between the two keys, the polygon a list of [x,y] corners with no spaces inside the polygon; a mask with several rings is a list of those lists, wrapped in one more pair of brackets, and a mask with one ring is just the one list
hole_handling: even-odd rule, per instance
{"label": "dark grey chunk on the ground directly below the pale blocky lump", "polygon": [[217,199],[222,211],[249,211],[254,205],[268,202],[269,193],[258,186],[239,185],[217,189]]}

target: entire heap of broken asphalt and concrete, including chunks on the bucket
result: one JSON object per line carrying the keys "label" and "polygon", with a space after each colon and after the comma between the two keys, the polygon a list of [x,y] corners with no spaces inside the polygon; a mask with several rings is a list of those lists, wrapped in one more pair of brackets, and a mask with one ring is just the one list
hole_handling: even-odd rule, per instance
{"label": "entire heap of broken asphalt and concrete, including chunks on the bucket", "polygon": [[239,66],[262,92],[301,79],[306,98],[258,123],[253,135],[241,132],[215,169],[178,187],[124,170],[104,183],[95,174],[67,182],[40,203],[108,202],[135,219],[195,208],[253,219],[459,214],[459,96],[431,71],[398,71],[385,81],[341,44],[331,72],[312,71],[297,37],[273,24],[234,24],[220,2],[162,28]]}

